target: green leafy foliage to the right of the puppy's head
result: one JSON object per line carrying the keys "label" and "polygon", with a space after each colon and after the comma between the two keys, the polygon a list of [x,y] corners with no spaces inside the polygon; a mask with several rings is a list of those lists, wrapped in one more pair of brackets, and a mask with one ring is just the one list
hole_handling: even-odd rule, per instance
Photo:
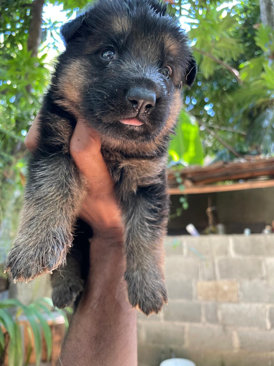
{"label": "green leafy foliage to the right of the puppy's head", "polygon": [[201,125],[205,154],[223,149],[221,141],[239,153],[273,153],[274,126],[265,111],[274,104],[274,32],[260,24],[259,1],[175,1],[171,7],[191,27],[199,72],[185,103]]}

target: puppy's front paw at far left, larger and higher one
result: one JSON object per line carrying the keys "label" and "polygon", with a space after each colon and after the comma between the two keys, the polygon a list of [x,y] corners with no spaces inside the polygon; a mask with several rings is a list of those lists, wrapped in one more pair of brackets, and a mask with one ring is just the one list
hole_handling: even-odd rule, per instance
{"label": "puppy's front paw at far left, larger and higher one", "polygon": [[62,229],[46,233],[40,231],[40,234],[41,240],[37,233],[33,239],[31,235],[25,236],[26,240],[22,240],[21,235],[9,251],[5,272],[9,272],[14,282],[33,280],[41,273],[51,272],[65,264],[68,245]]}

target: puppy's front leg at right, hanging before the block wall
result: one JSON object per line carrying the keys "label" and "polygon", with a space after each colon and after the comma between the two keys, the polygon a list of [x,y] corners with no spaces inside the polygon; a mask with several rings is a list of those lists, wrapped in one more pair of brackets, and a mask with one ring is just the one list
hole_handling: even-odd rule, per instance
{"label": "puppy's front leg at right, hanging before the block wall", "polygon": [[167,302],[163,238],[168,215],[165,184],[139,188],[125,204],[126,272],[129,302],[149,315]]}

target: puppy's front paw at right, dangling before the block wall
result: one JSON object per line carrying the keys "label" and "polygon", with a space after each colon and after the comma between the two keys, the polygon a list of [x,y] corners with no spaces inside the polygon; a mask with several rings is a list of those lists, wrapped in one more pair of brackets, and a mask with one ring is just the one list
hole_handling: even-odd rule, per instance
{"label": "puppy's front paw at right, dangling before the block wall", "polygon": [[129,302],[147,316],[151,313],[158,314],[164,303],[167,303],[167,290],[159,273],[128,270],[125,280],[128,284]]}

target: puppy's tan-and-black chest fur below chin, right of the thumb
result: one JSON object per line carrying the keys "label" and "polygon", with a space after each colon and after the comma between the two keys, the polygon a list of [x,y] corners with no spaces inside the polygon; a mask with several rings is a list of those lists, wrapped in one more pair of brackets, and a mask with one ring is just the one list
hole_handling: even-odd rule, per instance
{"label": "puppy's tan-and-black chest fur below chin, right of the thumb", "polygon": [[109,171],[118,190],[124,196],[136,193],[138,187],[151,186],[160,183],[164,157],[152,158],[125,158],[120,154],[103,152]]}

